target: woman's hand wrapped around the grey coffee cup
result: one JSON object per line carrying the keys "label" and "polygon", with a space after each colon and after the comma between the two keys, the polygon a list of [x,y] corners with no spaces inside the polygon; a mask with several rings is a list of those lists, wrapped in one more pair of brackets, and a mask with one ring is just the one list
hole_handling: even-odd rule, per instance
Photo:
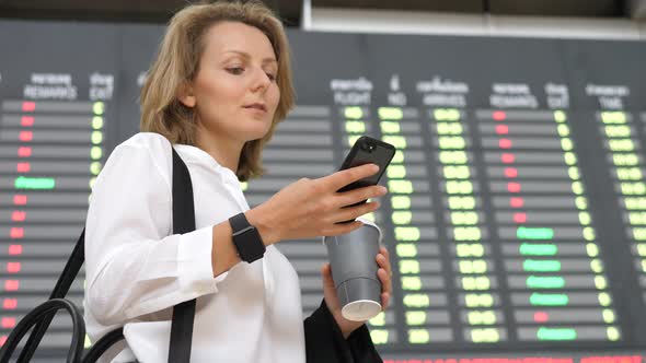
{"label": "woman's hand wrapped around the grey coffee cup", "polygon": [[[377,255],[377,265],[379,265],[377,276],[381,281],[381,311],[383,312],[388,307],[390,296],[392,294],[392,268],[385,247],[379,248],[379,254]],[[334,280],[332,280],[332,268],[330,264],[323,265],[321,274],[323,276],[323,296],[325,297],[327,309],[330,309],[330,313],[332,313],[332,316],[334,316],[336,324],[343,332],[343,337],[347,339],[347,337],[349,337],[349,335],[355,331],[355,329],[362,326],[366,321],[348,320],[341,314],[342,306],[338,301],[338,295],[336,294],[336,289],[334,288]]]}

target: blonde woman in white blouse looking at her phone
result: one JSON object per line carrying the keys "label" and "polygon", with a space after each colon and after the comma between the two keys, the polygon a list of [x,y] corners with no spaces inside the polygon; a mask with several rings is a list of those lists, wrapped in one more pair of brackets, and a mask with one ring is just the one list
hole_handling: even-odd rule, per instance
{"label": "blonde woman in white blouse looking at her phone", "polygon": [[[88,332],[95,341],[124,326],[126,337],[105,361],[165,362],[172,306],[193,298],[192,362],[380,361],[366,326],[343,318],[328,264],[323,303],[303,324],[298,277],[273,246],[360,227],[336,222],[378,203],[343,207],[385,188],[336,190],[377,166],[300,179],[251,210],[240,188],[262,173],[262,148],[292,104],[287,39],[262,3],[191,5],[173,17],[141,92],[143,132],[114,150],[88,212]],[[194,190],[197,229],[183,235],[172,235],[171,148]],[[247,242],[264,253],[244,250],[233,216],[255,226]],[[384,308],[388,257],[376,257]]]}

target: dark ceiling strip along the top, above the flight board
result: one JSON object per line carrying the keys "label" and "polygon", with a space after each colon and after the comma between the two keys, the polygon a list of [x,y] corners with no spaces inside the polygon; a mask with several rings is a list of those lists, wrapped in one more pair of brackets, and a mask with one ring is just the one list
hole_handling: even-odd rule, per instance
{"label": "dark ceiling strip along the top, above the flight board", "polygon": [[[264,0],[299,26],[304,0]],[[637,17],[646,0],[310,0],[313,8],[415,10],[500,15]],[[164,23],[192,0],[0,0],[0,17]]]}

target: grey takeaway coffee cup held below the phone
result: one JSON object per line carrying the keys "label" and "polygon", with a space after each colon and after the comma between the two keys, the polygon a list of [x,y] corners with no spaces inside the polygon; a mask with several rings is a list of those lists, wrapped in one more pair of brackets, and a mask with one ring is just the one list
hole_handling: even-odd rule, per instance
{"label": "grey takeaway coffee cup held below the phone", "polygon": [[381,281],[376,257],[381,230],[372,222],[339,236],[325,236],[323,244],[332,266],[332,277],[341,301],[342,315],[353,321],[366,321],[381,312]]}

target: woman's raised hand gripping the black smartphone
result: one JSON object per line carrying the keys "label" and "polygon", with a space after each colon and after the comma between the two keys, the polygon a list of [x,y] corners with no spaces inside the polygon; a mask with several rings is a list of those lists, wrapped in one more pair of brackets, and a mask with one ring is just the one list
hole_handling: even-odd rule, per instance
{"label": "woman's raised hand gripping the black smartphone", "polygon": [[[281,239],[336,236],[349,233],[362,225],[361,222],[337,223],[354,220],[379,208],[370,201],[355,207],[354,203],[381,197],[383,186],[369,186],[345,192],[337,192],[346,185],[377,174],[379,167],[366,164],[318,178],[302,178],[275,194],[269,200],[245,213],[265,245]],[[346,208],[344,208],[346,207]]]}

